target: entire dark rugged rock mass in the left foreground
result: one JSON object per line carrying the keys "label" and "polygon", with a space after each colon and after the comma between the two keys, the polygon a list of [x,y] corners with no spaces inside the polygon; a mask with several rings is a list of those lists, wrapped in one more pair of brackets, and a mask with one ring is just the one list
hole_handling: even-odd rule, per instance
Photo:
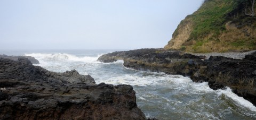
{"label": "entire dark rugged rock mass in the left foreground", "polygon": [[0,58],[0,119],[146,119],[131,85]]}

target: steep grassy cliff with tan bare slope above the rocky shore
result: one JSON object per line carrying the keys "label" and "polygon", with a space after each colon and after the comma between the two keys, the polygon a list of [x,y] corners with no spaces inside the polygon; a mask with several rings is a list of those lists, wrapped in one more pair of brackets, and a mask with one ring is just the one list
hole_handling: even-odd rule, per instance
{"label": "steep grassy cliff with tan bare slope above the rocky shore", "polygon": [[251,1],[205,1],[180,22],[164,48],[191,53],[256,49],[256,17],[248,15]]}

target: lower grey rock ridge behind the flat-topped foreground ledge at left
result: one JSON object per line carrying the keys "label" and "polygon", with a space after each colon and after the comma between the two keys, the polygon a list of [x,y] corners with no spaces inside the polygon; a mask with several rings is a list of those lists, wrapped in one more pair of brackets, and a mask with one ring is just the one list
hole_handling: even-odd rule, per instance
{"label": "lower grey rock ridge behind the flat-topped foreground ledge at left", "polygon": [[66,71],[55,73],[45,70],[40,66],[33,66],[27,58],[20,57],[17,62],[10,59],[0,58],[0,79],[33,80],[45,82],[63,83],[84,83],[95,84],[90,75],[81,75],[77,71]]}

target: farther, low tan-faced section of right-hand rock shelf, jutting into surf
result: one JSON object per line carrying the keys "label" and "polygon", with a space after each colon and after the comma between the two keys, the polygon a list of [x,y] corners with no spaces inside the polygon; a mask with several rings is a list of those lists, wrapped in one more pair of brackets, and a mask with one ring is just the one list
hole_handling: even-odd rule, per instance
{"label": "farther, low tan-faced section of right-hand rock shelf, jutting into surf", "polygon": [[162,49],[138,49],[126,52],[114,52],[99,57],[100,62],[124,61],[124,66],[140,71],[164,72],[189,76],[202,63],[205,56],[183,54],[179,51]]}

